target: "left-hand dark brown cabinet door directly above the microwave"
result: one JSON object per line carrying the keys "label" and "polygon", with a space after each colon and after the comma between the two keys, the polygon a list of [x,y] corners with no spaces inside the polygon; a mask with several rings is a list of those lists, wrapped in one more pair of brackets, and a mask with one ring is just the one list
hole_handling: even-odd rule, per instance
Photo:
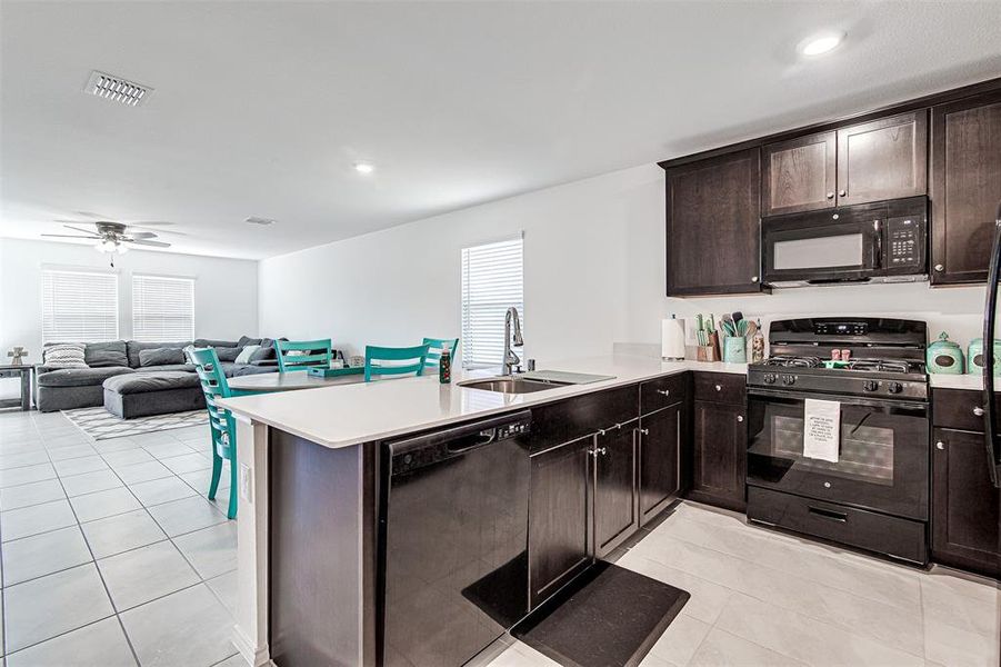
{"label": "left-hand dark brown cabinet door directly above the microwave", "polygon": [[838,138],[821,132],[761,149],[762,216],[831,208],[835,201]]}

